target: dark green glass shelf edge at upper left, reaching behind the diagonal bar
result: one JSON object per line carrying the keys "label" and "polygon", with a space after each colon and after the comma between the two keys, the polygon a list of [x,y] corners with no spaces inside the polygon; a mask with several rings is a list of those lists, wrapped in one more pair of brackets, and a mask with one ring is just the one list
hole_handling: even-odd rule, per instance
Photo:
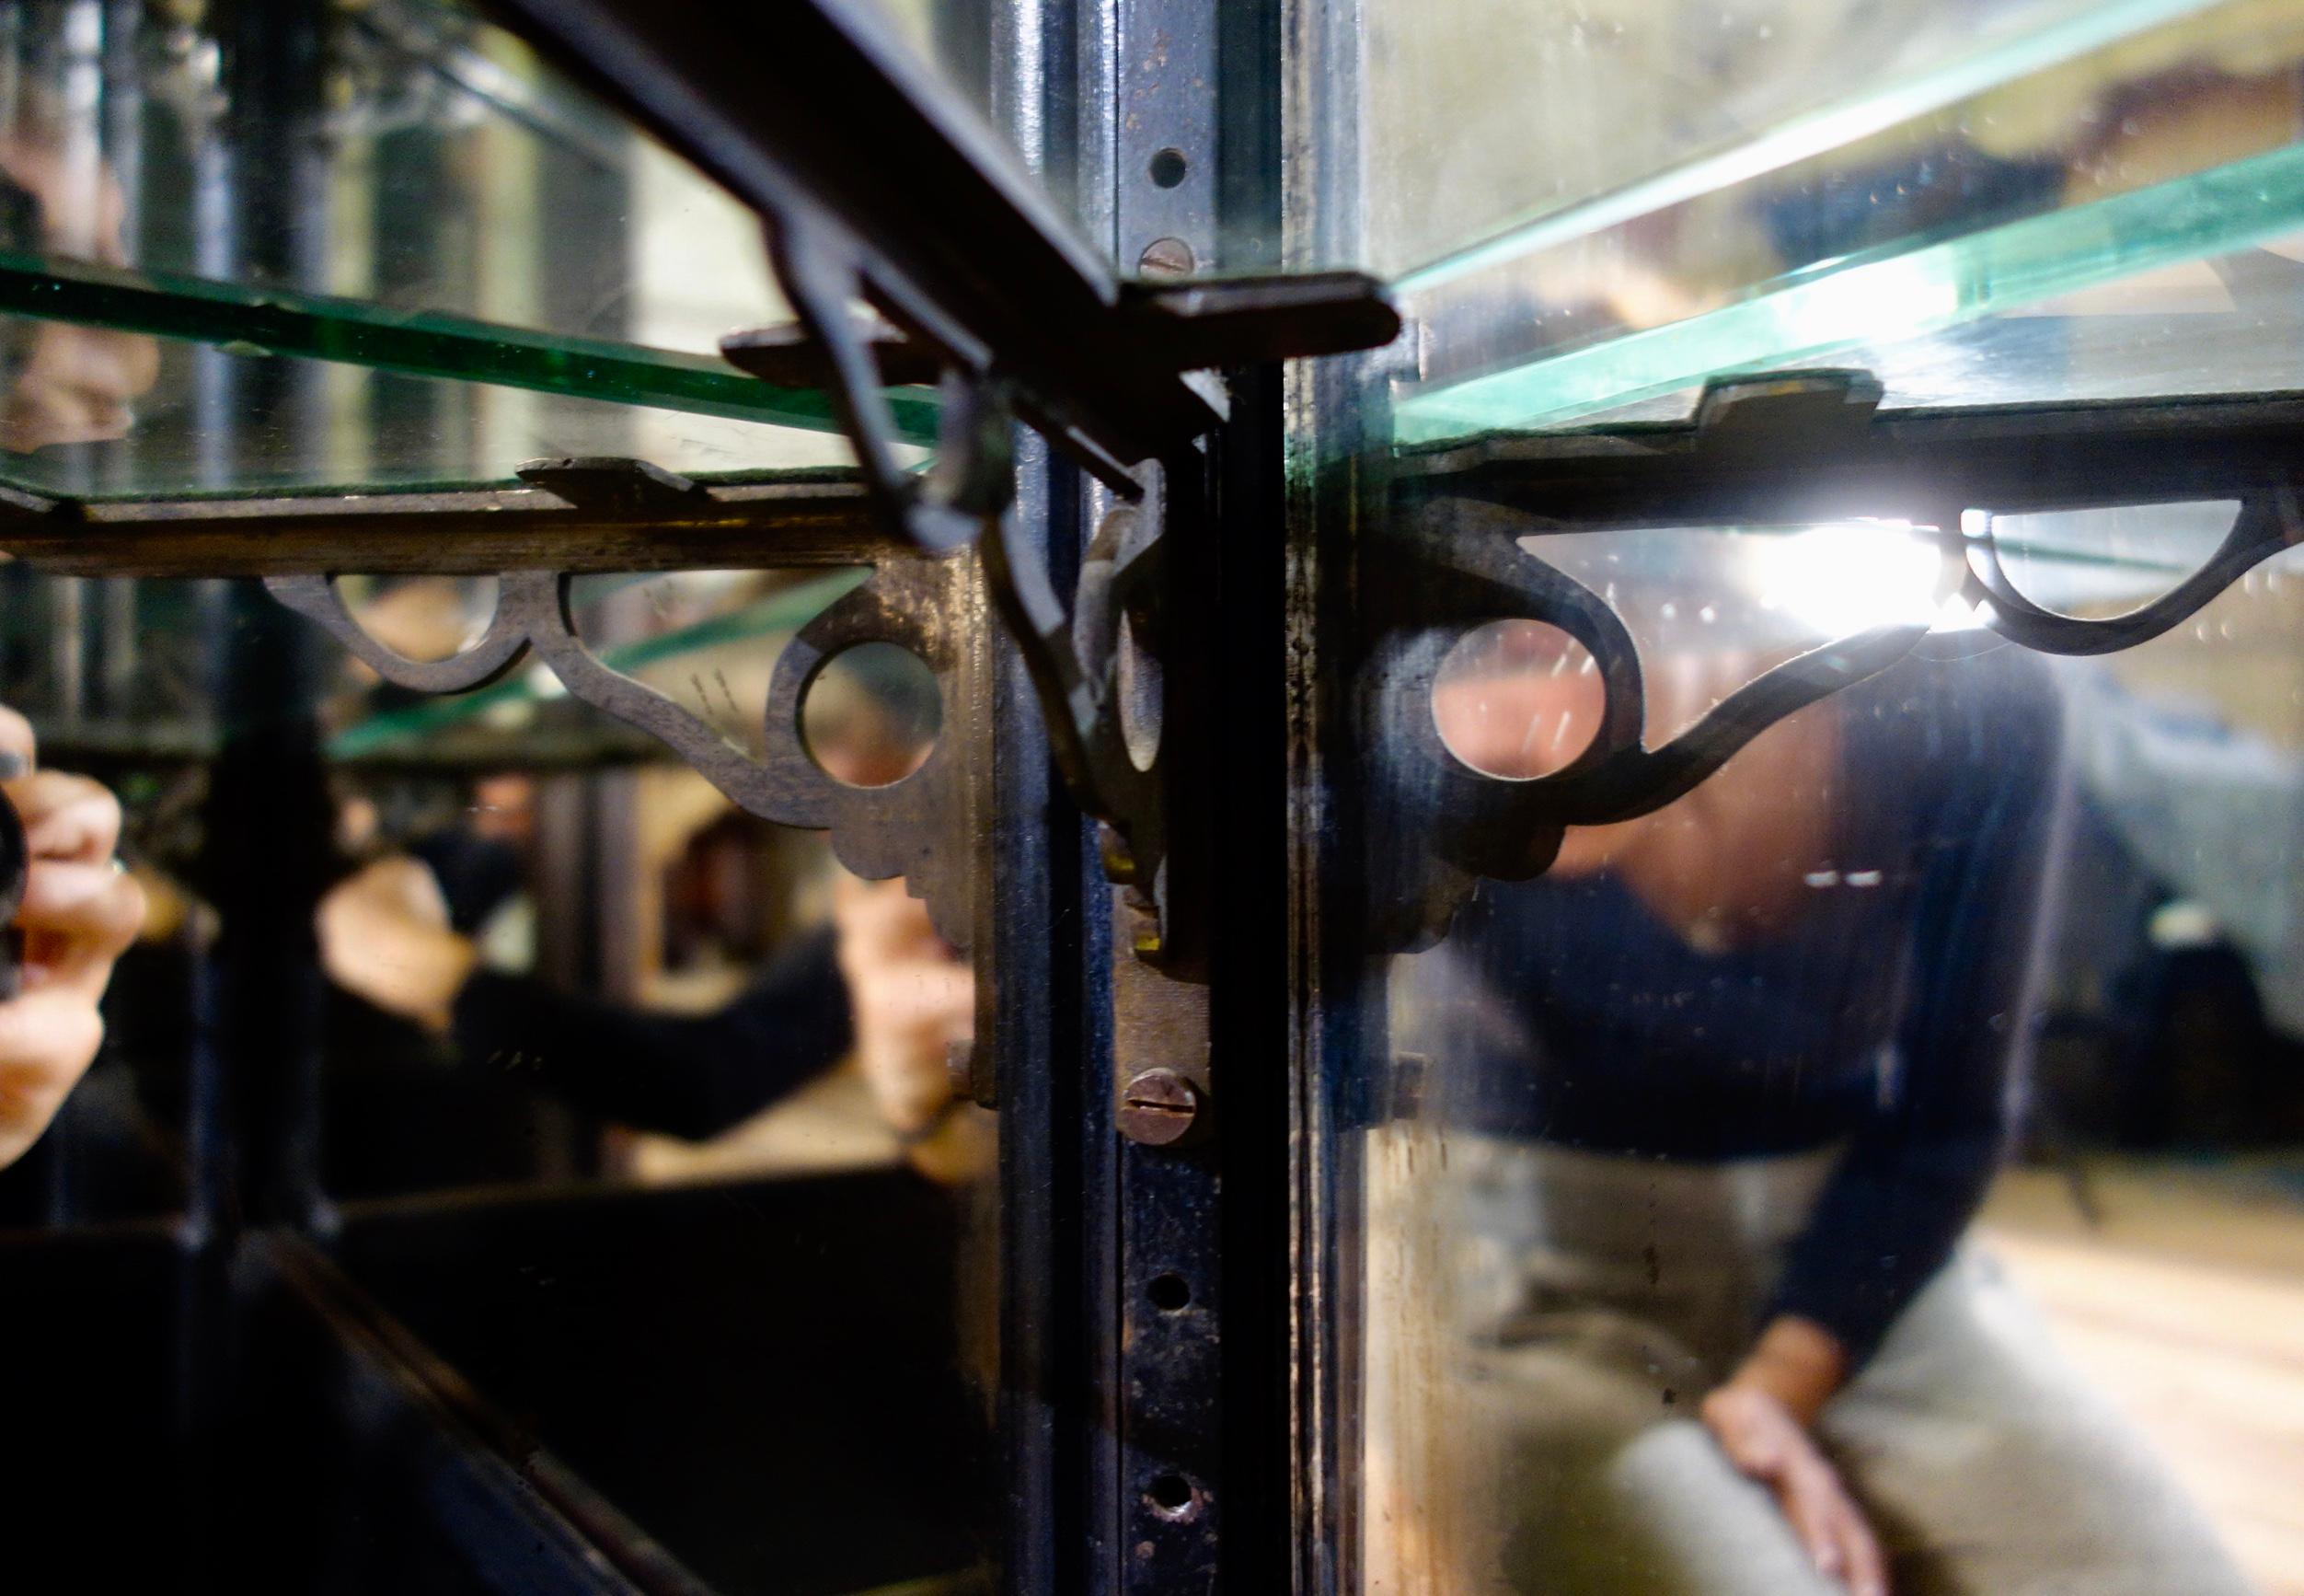
{"label": "dark green glass shelf edge at upper left, reaching behind the diagonal bar", "polygon": [[[806,431],[841,431],[820,390],[772,387],[717,357],[394,311],[175,272],[0,251],[0,314],[212,344],[242,355],[297,355],[403,376],[528,387]],[[892,390],[905,443],[935,443],[938,399]]]}

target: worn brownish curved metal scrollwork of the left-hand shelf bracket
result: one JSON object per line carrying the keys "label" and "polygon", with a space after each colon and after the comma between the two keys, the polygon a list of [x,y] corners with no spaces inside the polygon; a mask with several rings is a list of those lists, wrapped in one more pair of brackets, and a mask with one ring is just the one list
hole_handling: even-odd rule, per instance
{"label": "worn brownish curved metal scrollwork of the left-hand shelf bracket", "polygon": [[[327,627],[378,676],[417,692],[468,692],[516,669],[530,650],[571,697],[647,731],[746,814],[779,826],[832,833],[832,851],[869,879],[905,876],[929,902],[938,932],[968,946],[970,916],[961,876],[970,867],[968,796],[958,780],[965,736],[958,701],[958,637],[965,565],[889,560],[839,597],[786,643],[767,690],[763,756],[730,743],[687,706],[608,667],[585,646],[560,572],[505,572],[495,616],[477,643],[447,660],[408,660],[376,641],[343,604],[334,577],[270,577],[283,604]],[[945,731],[926,761],[889,786],[850,786],[829,775],[799,729],[799,706],[816,673],[855,643],[887,641],[917,655],[947,703]]]}

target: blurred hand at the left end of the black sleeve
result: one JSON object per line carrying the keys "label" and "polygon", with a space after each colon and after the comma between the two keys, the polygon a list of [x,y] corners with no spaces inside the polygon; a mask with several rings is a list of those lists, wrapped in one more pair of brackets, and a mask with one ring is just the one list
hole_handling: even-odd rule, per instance
{"label": "blurred hand at the left end of the black sleeve", "polygon": [[385,1012],[447,1031],[449,1010],[479,964],[447,923],[433,872],[396,853],[346,876],[320,899],[320,966]]}

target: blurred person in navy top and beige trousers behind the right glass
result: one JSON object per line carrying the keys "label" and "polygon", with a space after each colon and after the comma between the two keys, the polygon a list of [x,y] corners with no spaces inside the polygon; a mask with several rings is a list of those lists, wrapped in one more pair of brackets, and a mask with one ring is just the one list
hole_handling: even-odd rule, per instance
{"label": "blurred person in navy top and beige trousers behind the right glass", "polygon": [[[1514,761],[1599,710],[1544,667],[1442,685],[1449,745],[1539,775]],[[1735,667],[1666,660],[1652,715]],[[1401,959],[1442,1158],[1389,1222],[1440,1239],[1454,1384],[1424,1418],[1412,1375],[1373,1400],[1371,1520],[1431,1589],[2246,1589],[1958,1245],[2009,1128],[2055,770],[2037,662],[1908,660]]]}

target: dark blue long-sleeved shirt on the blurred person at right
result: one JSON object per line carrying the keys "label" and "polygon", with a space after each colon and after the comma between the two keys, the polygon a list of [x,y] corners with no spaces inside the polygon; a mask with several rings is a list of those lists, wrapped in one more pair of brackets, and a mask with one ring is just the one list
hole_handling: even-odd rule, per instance
{"label": "dark blue long-sleeved shirt on the blurred person at right", "polygon": [[1730,1160],[1841,1144],[1776,1296],[1871,1356],[1975,1215],[2009,1116],[2057,791],[2037,662],[1912,660],[1836,701],[1832,858],[1703,953],[1617,876],[1484,883],[1426,994],[1452,1123]]}

